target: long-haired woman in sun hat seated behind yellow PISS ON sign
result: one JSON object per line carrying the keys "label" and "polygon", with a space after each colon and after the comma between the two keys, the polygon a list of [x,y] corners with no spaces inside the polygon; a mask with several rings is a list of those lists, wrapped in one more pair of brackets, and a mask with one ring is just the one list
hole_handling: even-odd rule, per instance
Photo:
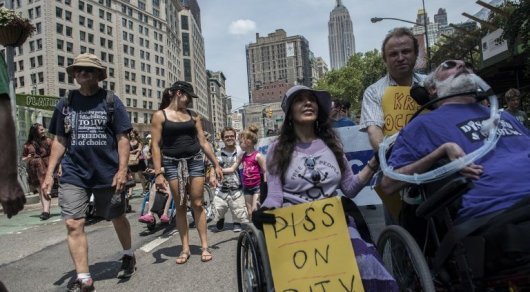
{"label": "long-haired woman in sun hat seated behind yellow PISS ON sign", "polygon": [[[262,209],[252,217],[256,226],[263,223],[260,219],[264,209],[324,199],[336,195],[338,188],[351,198],[373,176],[378,167],[374,158],[357,175],[353,174],[328,121],[330,108],[328,92],[306,86],[296,85],[283,97],[285,122],[268,150],[268,194]],[[361,238],[351,217],[348,221],[366,291],[397,291],[374,245]]]}

